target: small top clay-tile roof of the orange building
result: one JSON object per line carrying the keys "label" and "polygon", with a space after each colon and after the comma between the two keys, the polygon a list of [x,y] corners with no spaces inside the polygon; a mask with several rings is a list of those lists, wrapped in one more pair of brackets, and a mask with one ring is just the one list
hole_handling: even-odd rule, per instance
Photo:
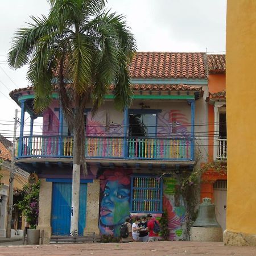
{"label": "small top clay-tile roof of the orange building", "polygon": [[207,65],[209,73],[226,72],[226,55],[225,54],[208,54]]}

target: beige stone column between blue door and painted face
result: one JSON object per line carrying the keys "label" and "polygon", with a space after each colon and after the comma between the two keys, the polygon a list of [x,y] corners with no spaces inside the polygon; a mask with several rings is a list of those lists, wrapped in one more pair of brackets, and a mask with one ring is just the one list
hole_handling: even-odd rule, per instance
{"label": "beige stone column between blue door and painted face", "polygon": [[84,233],[95,232],[100,234],[98,228],[98,209],[100,204],[100,180],[93,180],[87,184],[87,204],[86,204],[86,225]]}

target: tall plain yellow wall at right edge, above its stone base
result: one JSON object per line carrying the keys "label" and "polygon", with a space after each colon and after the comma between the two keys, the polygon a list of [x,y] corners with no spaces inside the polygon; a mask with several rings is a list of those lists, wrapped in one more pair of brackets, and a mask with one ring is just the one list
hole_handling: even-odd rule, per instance
{"label": "tall plain yellow wall at right edge, above its stone base", "polygon": [[228,124],[226,229],[234,234],[256,234],[255,59],[256,1],[228,0],[226,26],[226,113]]}

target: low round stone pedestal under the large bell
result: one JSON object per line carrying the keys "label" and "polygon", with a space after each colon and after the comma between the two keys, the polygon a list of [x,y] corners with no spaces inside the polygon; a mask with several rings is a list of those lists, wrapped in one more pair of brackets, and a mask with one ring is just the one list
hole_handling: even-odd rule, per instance
{"label": "low round stone pedestal under the large bell", "polygon": [[222,242],[222,228],[204,228],[201,226],[192,226],[190,240],[201,242]]}

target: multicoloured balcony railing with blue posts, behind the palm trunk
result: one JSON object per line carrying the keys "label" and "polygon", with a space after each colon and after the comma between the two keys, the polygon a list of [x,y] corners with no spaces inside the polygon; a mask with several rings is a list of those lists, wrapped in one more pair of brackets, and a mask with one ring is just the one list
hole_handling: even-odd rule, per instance
{"label": "multicoloured balcony railing with blue posts, behind the palm trunk", "polygon": [[[16,159],[72,158],[73,137],[17,138]],[[192,147],[191,147],[192,145]],[[86,137],[86,159],[193,161],[192,138]]]}

